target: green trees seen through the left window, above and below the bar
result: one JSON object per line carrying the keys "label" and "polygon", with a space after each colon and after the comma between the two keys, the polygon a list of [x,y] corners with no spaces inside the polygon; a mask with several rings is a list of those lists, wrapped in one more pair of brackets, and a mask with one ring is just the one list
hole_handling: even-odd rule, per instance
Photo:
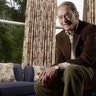
{"label": "green trees seen through the left window, above and below the bar", "polygon": [[[9,7],[0,0],[0,19],[24,22],[27,0],[14,0],[18,5]],[[21,2],[22,1],[22,2]],[[22,62],[24,26],[0,23],[0,62]]]}

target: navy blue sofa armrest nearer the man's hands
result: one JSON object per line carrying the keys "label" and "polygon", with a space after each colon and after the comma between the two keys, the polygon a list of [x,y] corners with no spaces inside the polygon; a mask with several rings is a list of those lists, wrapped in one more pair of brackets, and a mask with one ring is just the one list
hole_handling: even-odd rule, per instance
{"label": "navy blue sofa armrest nearer the man's hands", "polygon": [[34,69],[32,66],[25,66],[24,68],[24,81],[34,81]]}

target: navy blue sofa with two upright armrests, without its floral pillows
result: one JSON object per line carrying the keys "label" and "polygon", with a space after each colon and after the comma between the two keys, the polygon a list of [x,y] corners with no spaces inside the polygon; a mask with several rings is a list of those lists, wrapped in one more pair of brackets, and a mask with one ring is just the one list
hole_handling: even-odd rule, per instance
{"label": "navy blue sofa with two upright armrests, without its floral pillows", "polygon": [[33,67],[22,71],[20,64],[14,64],[13,70],[16,82],[0,82],[0,96],[36,96]]}

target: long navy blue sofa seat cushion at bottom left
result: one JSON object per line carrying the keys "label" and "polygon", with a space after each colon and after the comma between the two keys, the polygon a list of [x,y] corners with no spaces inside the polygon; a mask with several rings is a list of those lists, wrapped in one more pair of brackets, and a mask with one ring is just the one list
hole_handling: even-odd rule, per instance
{"label": "long navy blue sofa seat cushion at bottom left", "polygon": [[22,96],[35,94],[35,82],[5,82],[0,83],[0,96]]}

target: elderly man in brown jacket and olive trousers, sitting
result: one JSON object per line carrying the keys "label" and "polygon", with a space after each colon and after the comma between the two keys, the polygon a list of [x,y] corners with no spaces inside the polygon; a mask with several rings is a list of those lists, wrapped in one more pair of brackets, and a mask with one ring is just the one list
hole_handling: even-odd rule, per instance
{"label": "elderly man in brown jacket and olive trousers, sitting", "polygon": [[[56,35],[56,64],[40,73],[37,96],[83,96],[96,68],[96,26],[79,20],[76,6],[63,2],[57,16],[64,28]],[[89,85],[90,86],[90,85]]]}

